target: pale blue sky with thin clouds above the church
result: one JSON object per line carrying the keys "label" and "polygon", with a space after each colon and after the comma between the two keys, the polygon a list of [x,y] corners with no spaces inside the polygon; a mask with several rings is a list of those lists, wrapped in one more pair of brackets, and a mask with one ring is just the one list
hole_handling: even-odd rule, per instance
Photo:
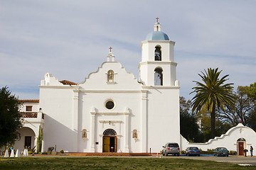
{"label": "pale blue sky with thin clouds above the church", "polygon": [[39,99],[44,74],[80,83],[107,60],[139,80],[140,43],[154,30],[176,42],[180,96],[187,100],[204,69],[223,70],[228,83],[256,80],[254,0],[8,0],[0,1],[0,88]]}

